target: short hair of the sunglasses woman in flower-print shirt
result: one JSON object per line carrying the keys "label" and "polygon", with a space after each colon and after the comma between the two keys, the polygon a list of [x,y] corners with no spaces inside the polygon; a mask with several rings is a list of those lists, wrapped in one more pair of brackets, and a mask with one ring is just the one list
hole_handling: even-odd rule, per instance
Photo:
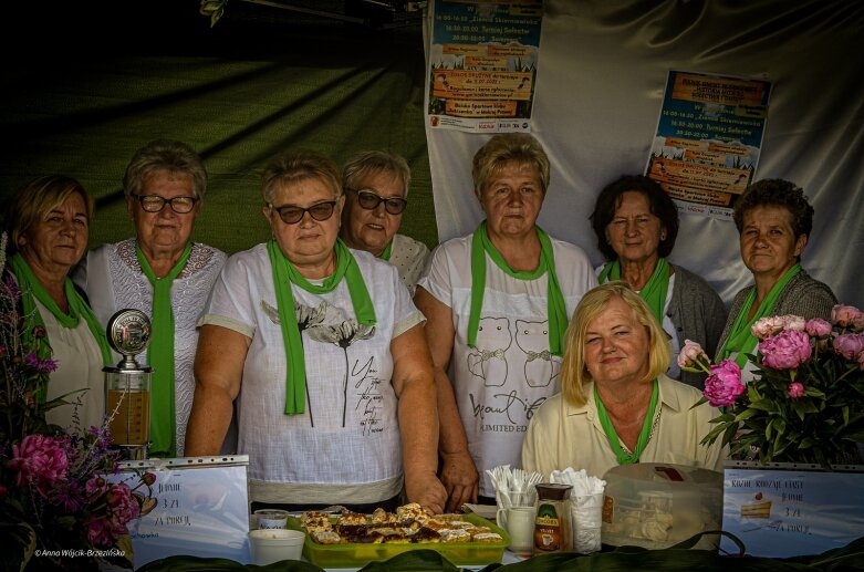
{"label": "short hair of the sunglasses woman in flower-print shirt", "polygon": [[277,187],[282,184],[319,179],[333,191],[333,198],[342,196],[342,178],[333,160],[318,152],[291,149],[270,159],[261,177],[261,196],[264,202],[273,202]]}

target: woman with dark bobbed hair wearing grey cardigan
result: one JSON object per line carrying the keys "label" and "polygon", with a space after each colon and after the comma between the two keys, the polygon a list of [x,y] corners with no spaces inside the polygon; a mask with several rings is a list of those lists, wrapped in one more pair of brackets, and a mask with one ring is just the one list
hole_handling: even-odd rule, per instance
{"label": "woman with dark bobbed hair wearing grey cardigan", "polygon": [[624,176],[600,191],[591,223],[607,260],[598,281],[624,280],[639,293],[669,336],[667,375],[701,389],[702,376],[681,372],[678,353],[685,340],[716,347],[726,306],[701,277],[666,261],[678,236],[675,202],[655,180]]}

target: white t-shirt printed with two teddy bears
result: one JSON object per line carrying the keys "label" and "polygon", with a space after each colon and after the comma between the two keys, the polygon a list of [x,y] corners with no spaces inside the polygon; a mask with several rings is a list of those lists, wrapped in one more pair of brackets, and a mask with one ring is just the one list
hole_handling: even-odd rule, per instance
{"label": "white t-shirt printed with two teddy bears", "polygon": [[[417,283],[452,311],[450,382],[468,448],[481,475],[480,495],[491,497],[488,469],[520,465],[522,438],[538,407],[560,391],[561,357],[549,353],[548,275],[512,278],[486,256],[486,291],[477,347],[468,346],[471,309],[471,240],[451,239],[431,254]],[[575,245],[552,240],[555,273],[568,318],[597,285],[591,262]]]}

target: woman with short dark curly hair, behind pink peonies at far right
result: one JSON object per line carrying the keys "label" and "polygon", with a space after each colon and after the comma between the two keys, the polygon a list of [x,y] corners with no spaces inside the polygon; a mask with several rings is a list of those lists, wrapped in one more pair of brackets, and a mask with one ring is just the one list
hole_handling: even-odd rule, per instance
{"label": "woman with short dark curly hair, behind pink peonies at far right", "polygon": [[733,208],[741,259],[753,284],[732,299],[715,361],[733,358],[751,371],[746,354],[756,353],[757,340],[750,329],[757,320],[787,314],[830,320],[837,299],[827,284],[801,268],[801,253],[813,228],[813,207],[800,187],[783,179],[762,179],[750,185]]}

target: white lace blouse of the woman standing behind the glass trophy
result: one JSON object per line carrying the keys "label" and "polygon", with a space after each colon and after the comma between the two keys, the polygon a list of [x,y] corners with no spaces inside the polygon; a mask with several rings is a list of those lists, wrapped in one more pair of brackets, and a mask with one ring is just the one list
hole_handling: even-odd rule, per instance
{"label": "white lace blouse of the woman standing behind the glass trophy", "polygon": [[[135,245],[135,239],[129,238],[91,250],[72,277],[87,293],[93,313],[103,326],[119,310],[140,310],[153,318],[153,285],[140,269]],[[198,347],[196,324],[226,258],[221,250],[194,242],[186,266],[171,282],[174,409],[179,457],[184,454],[186,424],[195,395],[192,365]],[[149,364],[149,350],[136,357],[139,364]],[[113,355],[114,363],[117,363],[121,356],[116,353]]]}

